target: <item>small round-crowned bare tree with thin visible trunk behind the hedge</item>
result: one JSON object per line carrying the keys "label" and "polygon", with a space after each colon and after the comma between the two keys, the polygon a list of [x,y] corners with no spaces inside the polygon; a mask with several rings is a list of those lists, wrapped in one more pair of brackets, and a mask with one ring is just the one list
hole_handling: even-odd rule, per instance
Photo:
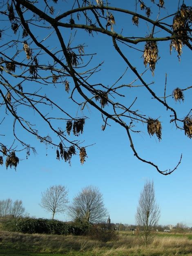
{"label": "small round-crowned bare tree with thin visible trunk behind the hedge", "polygon": [[68,190],[65,186],[51,186],[42,193],[40,206],[52,213],[52,219],[56,213],[63,213],[68,203]]}

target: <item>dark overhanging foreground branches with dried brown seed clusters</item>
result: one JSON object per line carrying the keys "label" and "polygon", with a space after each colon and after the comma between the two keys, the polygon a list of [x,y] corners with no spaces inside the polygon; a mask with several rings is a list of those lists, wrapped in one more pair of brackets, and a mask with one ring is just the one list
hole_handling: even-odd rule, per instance
{"label": "dark overhanging foreground branches with dried brown seed clusters", "polygon": [[[57,5],[60,2],[62,10],[60,4]],[[151,118],[150,112],[143,112],[144,98],[139,103],[138,94],[141,90],[143,94],[144,89],[150,95],[146,100],[147,103],[151,100],[151,109],[155,101],[155,108],[162,106],[165,110],[162,110],[161,116],[167,116],[176,129],[192,137],[191,109],[184,108],[181,115],[172,99],[183,101],[184,92],[189,92],[192,86],[181,85],[173,90],[168,86],[167,75],[164,83],[165,74],[161,75],[163,80],[158,82],[158,86],[154,86],[152,76],[144,75],[149,70],[154,75],[157,63],[164,60],[159,56],[158,47],[161,44],[175,49],[179,59],[184,46],[189,51],[192,49],[192,8],[180,0],[170,4],[174,9],[172,12],[165,9],[166,0],[130,0],[124,9],[121,8],[123,1],[116,2],[117,7],[110,6],[108,0],[53,0],[53,6],[47,0],[2,2],[0,13],[4,27],[0,30],[0,125],[4,131],[1,129],[0,134],[0,164],[5,162],[7,167],[16,167],[20,151],[27,150],[27,157],[31,149],[35,153],[34,146],[29,143],[30,136],[45,143],[46,147],[55,146],[57,159],[70,163],[71,157],[79,154],[83,164],[87,157],[87,145],[82,146],[82,141],[76,140],[76,136],[83,132],[87,116],[76,117],[76,111],[69,111],[69,104],[84,111],[85,106],[91,106],[100,112],[102,130],[113,122],[121,126],[134,156],[152,165],[159,173],[168,175],[181,163],[182,155],[174,168],[161,170],[150,159],[140,155],[134,146],[133,135],[142,132],[145,124],[150,136],[156,135],[159,140],[162,137],[161,119],[156,116]],[[146,29],[140,29],[140,24],[146,25]],[[132,29],[127,31],[127,27],[131,26],[138,27],[138,33],[136,29],[135,33]],[[149,31],[148,34],[145,31]],[[77,33],[82,36],[77,38]],[[96,53],[89,52],[89,48],[85,52],[90,35],[96,35],[99,42],[105,37],[111,40],[114,52],[111,51],[110,55],[114,54],[114,58],[118,55],[118,61],[125,63],[125,70],[120,76],[116,76],[116,63],[109,65],[108,73],[113,79],[109,84],[105,84],[102,75],[98,75],[103,66],[103,56],[100,61],[93,63]],[[92,41],[95,43],[92,49],[100,53],[104,46],[98,44],[98,40]],[[140,65],[137,69],[135,58],[140,60],[142,54],[143,69]],[[184,65],[184,70],[188,64],[181,65]],[[121,79],[127,72],[128,78],[132,79],[122,84]],[[64,87],[63,91],[61,87]],[[57,92],[55,98],[54,90]],[[129,97],[130,90],[134,98]],[[61,96],[62,102],[59,101]],[[33,113],[36,115],[35,121],[31,115]],[[6,127],[10,127],[11,122],[13,143],[10,142],[10,133],[6,133]],[[21,129],[24,134],[18,132]],[[26,139],[23,140],[19,134]],[[26,134],[30,135],[29,139]],[[181,133],[179,136],[182,136]]]}

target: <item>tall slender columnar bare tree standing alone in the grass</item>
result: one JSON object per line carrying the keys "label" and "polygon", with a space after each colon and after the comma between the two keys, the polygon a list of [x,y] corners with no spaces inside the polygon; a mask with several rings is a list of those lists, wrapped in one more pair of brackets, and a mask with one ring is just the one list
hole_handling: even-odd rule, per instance
{"label": "tall slender columnar bare tree standing alone in the grass", "polygon": [[143,238],[146,246],[150,242],[159,217],[160,209],[155,199],[154,183],[147,181],[141,192],[136,212],[136,222],[138,226],[143,228]]}

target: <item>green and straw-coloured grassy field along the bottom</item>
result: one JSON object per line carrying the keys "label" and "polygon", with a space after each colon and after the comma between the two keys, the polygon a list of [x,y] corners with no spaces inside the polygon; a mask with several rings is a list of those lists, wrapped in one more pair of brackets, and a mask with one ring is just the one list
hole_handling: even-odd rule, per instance
{"label": "green and straw-coloured grassy field along the bottom", "polygon": [[192,256],[192,234],[159,233],[149,247],[132,232],[118,232],[115,240],[107,243],[87,236],[58,236],[21,234],[0,230],[1,256]]}

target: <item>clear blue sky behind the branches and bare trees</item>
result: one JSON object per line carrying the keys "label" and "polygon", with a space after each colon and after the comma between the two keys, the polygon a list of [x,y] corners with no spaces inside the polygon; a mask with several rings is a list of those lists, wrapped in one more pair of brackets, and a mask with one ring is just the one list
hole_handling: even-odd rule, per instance
{"label": "clear blue sky behind the branches and bare trees", "polygon": [[[118,3],[117,3],[118,2]],[[145,1],[150,6],[151,1]],[[169,2],[169,3],[168,3]],[[176,11],[178,1],[165,1],[165,13]],[[190,1],[185,1],[187,5]],[[135,11],[134,0],[126,1],[110,1],[111,6],[118,4],[118,7],[127,8]],[[65,2],[62,2],[65,5]],[[169,5],[168,5],[169,4]],[[140,12],[140,10],[138,11]],[[166,14],[165,14],[166,15]],[[163,14],[162,14],[163,16]],[[143,33],[146,36],[148,33],[147,27],[144,24],[136,26],[131,24],[131,16],[125,18],[123,15],[118,16],[114,13],[116,26],[114,30],[121,32],[121,22],[127,23],[128,36],[136,36]],[[152,18],[156,17],[156,12],[153,11]],[[70,31],[74,34],[75,30]],[[159,32],[161,33],[161,32]],[[44,36],[44,35],[42,35]],[[157,34],[158,36],[158,34]],[[92,77],[90,81],[102,82],[106,86],[111,85],[125,71],[126,65],[121,58],[114,52],[112,48],[112,40],[107,36],[96,35],[89,36],[84,31],[78,31],[76,35],[78,43],[85,42],[88,47],[85,48],[85,53],[98,52],[94,57],[92,65],[97,65],[105,61],[102,71]],[[6,38],[5,38],[6,39]],[[55,43],[54,38],[49,43]],[[74,41],[74,45],[75,45]],[[144,78],[148,83],[154,81],[154,88],[157,95],[163,96],[165,73],[167,73],[167,94],[171,94],[176,87],[186,88],[191,86],[191,52],[187,47],[183,47],[181,61],[178,61],[177,53],[173,50],[170,55],[169,43],[159,43],[159,56],[161,59],[156,65],[155,75],[152,77],[148,71]],[[143,45],[138,46],[143,49]],[[128,47],[122,47],[125,55],[133,65],[137,67],[139,72],[143,72],[143,58],[141,52],[134,52]],[[118,85],[131,82],[135,76],[130,70]],[[13,80],[14,83],[14,80]],[[136,83],[138,85],[139,83]],[[36,86],[36,85],[34,85]],[[57,89],[46,87],[42,90],[51,98],[57,99],[59,104],[65,104],[67,95],[63,88],[58,85]],[[101,130],[103,124],[100,113],[92,107],[85,108],[80,111],[76,105],[69,103],[65,106],[74,115],[87,115],[89,119],[85,121],[83,135],[80,140],[85,140],[86,145],[94,144],[87,148],[88,158],[82,166],[79,157],[75,156],[71,159],[71,166],[64,161],[56,159],[55,149],[40,144],[34,138],[28,137],[21,130],[18,134],[22,139],[27,139],[33,146],[36,147],[37,155],[31,153],[28,160],[20,161],[16,171],[5,166],[0,167],[0,200],[11,198],[22,200],[26,211],[30,216],[37,218],[50,218],[51,214],[45,212],[40,206],[41,192],[45,191],[49,186],[62,184],[69,189],[69,201],[72,202],[73,197],[85,186],[97,186],[107,207],[111,222],[122,222],[128,224],[135,223],[135,213],[139,195],[143,189],[145,181],[148,179],[154,181],[156,192],[156,200],[160,205],[161,218],[159,224],[176,225],[177,222],[192,227],[192,166],[191,166],[191,140],[185,136],[183,131],[176,130],[173,124],[170,124],[170,112],[161,106],[159,103],[151,99],[151,95],[142,89],[123,91],[126,94],[127,105],[132,102],[135,96],[138,97],[135,108],[139,108],[141,112],[153,118],[159,118],[163,124],[162,140],[156,137],[150,138],[145,125],[139,126],[142,130],[140,134],[134,134],[134,145],[141,157],[152,160],[159,165],[161,169],[173,168],[179,161],[181,153],[183,159],[178,169],[168,176],[163,176],[147,164],[140,162],[134,157],[129,146],[129,141],[125,131],[116,124],[110,122],[112,126],[108,126],[105,131]],[[184,103],[176,103],[172,97],[167,102],[178,110],[180,117],[185,117],[192,108],[192,90],[184,92]],[[30,115],[33,122],[38,122],[38,117],[33,113],[23,113]],[[1,113],[2,116],[2,113]],[[6,127],[9,139],[11,141],[12,131],[8,123],[2,124],[2,129]],[[40,123],[41,125],[41,123]],[[41,129],[45,133],[49,133],[46,126]],[[27,137],[25,137],[27,136]],[[8,139],[8,138],[7,138]],[[47,154],[47,155],[46,155]],[[69,220],[67,213],[56,215],[59,220]]]}

